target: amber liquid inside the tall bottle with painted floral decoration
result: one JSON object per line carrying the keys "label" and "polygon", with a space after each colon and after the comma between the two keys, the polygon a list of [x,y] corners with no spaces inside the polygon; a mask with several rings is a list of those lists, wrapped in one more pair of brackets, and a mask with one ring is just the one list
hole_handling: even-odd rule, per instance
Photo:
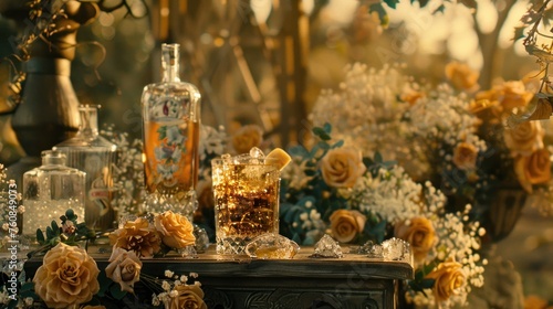
{"label": "amber liquid inside the tall bottle with painted floral decoration", "polygon": [[[164,127],[185,137],[182,145],[168,146]],[[167,134],[165,134],[167,135]],[[146,187],[150,193],[175,195],[196,188],[198,180],[199,124],[185,120],[144,122],[144,164]],[[165,156],[163,159],[160,154]],[[156,157],[157,156],[157,157]]]}

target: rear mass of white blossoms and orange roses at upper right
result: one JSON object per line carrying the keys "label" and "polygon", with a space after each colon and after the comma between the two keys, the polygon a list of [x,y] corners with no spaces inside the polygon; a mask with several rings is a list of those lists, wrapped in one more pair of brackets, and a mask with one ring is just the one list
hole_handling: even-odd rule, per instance
{"label": "rear mass of white blossoms and orange roses at upper right", "polygon": [[[447,195],[448,211],[471,204],[470,216],[499,241],[514,226],[529,194],[542,201],[536,205],[543,213],[551,212],[551,150],[542,125],[507,126],[535,98],[522,81],[478,92],[478,74],[468,66],[451,63],[446,73],[450,83],[432,86],[414,82],[398,66],[355,64],[340,92],[320,96],[311,117],[315,125],[332,124],[336,138],[363,153],[379,151],[414,179],[429,180]],[[518,202],[512,214],[504,213],[507,200]]]}

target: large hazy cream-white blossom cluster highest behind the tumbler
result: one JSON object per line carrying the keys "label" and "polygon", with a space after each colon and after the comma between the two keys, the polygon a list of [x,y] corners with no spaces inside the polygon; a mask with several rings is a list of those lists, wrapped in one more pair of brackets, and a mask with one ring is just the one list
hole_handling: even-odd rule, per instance
{"label": "large hazy cream-white blossom cluster highest behind the tumbler", "polygon": [[310,119],[319,127],[331,124],[333,138],[355,145],[365,157],[378,151],[386,160],[410,162],[414,146],[407,137],[413,128],[403,119],[410,105],[398,96],[417,88],[398,66],[375,70],[353,64],[346,67],[338,92],[321,93]]}

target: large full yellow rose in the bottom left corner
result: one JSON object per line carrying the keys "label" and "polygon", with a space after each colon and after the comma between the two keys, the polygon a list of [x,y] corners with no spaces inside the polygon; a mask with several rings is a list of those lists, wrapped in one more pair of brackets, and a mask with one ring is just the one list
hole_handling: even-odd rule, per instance
{"label": "large full yellow rose in the bottom left corner", "polygon": [[96,262],[84,249],[59,243],[36,269],[34,290],[49,308],[74,307],[100,290],[98,274]]}

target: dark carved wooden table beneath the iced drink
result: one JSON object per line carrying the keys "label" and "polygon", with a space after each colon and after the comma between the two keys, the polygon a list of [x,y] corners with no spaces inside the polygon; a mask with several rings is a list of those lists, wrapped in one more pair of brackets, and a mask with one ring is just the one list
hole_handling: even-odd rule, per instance
{"label": "dark carved wooden table beneath the iced drink", "polygon": [[[313,248],[306,247],[293,259],[252,259],[208,249],[197,258],[143,259],[142,271],[157,277],[166,269],[197,273],[209,308],[397,308],[399,283],[413,278],[413,265],[343,252],[343,258],[313,258]],[[105,269],[106,254],[91,256]],[[41,264],[28,260],[28,276]]]}

